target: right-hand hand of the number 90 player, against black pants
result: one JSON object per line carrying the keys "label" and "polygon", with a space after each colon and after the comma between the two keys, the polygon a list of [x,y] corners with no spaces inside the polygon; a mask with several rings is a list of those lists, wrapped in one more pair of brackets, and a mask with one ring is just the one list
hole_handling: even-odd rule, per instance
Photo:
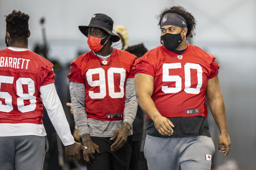
{"label": "right-hand hand of the number 90 player, against black pants", "polygon": [[115,131],[113,136],[109,139],[114,140],[116,138],[115,142],[110,146],[111,151],[117,151],[123,147],[123,145],[127,141],[127,136],[130,131],[130,128],[131,126],[127,122],[124,122],[123,126],[117,131]]}

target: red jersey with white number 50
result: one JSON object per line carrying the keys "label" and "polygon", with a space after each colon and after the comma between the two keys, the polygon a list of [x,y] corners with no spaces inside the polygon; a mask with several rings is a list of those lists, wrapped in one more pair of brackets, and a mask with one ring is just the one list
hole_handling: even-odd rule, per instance
{"label": "red jersey with white number 50", "polygon": [[219,64],[213,55],[187,45],[181,55],[158,46],[136,60],[133,68],[134,74],[154,77],[151,98],[164,117],[207,117],[207,80],[218,75]]}

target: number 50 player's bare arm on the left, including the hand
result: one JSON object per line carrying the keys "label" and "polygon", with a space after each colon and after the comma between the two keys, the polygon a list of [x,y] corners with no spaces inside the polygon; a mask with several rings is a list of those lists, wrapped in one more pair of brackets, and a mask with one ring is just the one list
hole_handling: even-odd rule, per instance
{"label": "number 50 player's bare arm on the left, including the hand", "polygon": [[173,123],[158,112],[154,101],[151,99],[154,90],[154,77],[137,73],[135,74],[134,83],[135,94],[142,111],[154,121],[155,128],[161,135],[172,135],[173,129],[171,127],[174,127]]}

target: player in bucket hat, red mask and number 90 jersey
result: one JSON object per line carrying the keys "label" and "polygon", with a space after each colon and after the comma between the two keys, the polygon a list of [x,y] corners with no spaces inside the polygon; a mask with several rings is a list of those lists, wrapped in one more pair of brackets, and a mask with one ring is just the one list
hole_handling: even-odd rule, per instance
{"label": "player in bucket hat, red mask and number 90 jersey", "polygon": [[74,119],[90,169],[126,170],[131,157],[132,124],[137,111],[134,74],[136,56],[115,49],[113,20],[94,14],[79,26],[91,51],[71,62],[70,96]]}

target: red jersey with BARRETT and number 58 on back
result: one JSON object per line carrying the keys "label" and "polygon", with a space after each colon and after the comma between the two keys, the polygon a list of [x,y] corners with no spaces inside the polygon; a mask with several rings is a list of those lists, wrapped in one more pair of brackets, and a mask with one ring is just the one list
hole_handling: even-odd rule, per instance
{"label": "red jersey with BARRETT and number 58 on back", "polygon": [[52,68],[29,50],[0,50],[0,123],[43,124],[40,87],[54,83]]}

